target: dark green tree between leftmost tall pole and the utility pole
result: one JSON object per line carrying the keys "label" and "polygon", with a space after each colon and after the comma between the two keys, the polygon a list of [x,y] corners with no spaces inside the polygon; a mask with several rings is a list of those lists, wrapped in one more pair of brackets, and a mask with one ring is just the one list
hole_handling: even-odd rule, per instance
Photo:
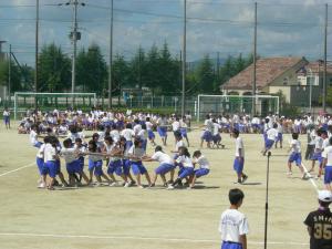
{"label": "dark green tree between leftmost tall pole and the utility pole", "polygon": [[71,89],[71,60],[54,43],[44,45],[39,55],[39,89],[41,92],[63,92]]}

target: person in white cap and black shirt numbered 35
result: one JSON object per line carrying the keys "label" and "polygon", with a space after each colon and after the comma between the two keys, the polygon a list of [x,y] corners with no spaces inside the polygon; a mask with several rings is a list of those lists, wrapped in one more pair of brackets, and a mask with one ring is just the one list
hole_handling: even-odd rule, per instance
{"label": "person in white cap and black shirt numbered 35", "polygon": [[304,225],[310,236],[310,249],[332,249],[332,212],[329,205],[332,203],[332,193],[319,191],[318,210],[308,215]]}

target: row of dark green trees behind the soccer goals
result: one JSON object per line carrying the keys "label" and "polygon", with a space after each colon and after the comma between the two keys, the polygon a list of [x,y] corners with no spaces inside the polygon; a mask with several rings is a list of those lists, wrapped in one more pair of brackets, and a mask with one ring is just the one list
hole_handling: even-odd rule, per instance
{"label": "row of dark green trees behind the soccer goals", "polygon": [[[220,66],[207,54],[186,74],[186,94],[220,94],[220,84],[246,69],[252,56],[228,56]],[[38,92],[71,91],[71,56],[61,46],[48,44],[39,54]],[[189,63],[188,63],[189,64]],[[8,61],[0,62],[0,84],[8,84]],[[11,92],[34,91],[34,69],[11,62]],[[112,66],[113,94],[126,89],[148,87],[155,95],[179,95],[181,91],[181,59],[169,52],[167,43],[153,45],[148,51],[138,48],[132,59],[115,54]],[[108,65],[101,48],[92,44],[82,49],[76,58],[76,92],[95,92],[107,96]]]}

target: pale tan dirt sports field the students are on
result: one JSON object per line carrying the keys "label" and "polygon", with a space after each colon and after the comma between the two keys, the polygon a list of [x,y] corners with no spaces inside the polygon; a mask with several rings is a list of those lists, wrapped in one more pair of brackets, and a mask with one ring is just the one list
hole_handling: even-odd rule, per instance
{"label": "pale tan dirt sports field the students are on", "polygon": [[[191,153],[198,148],[199,135],[200,131],[189,133]],[[49,191],[37,188],[37,149],[28,135],[0,126],[0,248],[220,248],[218,221],[234,187],[246,194],[241,211],[250,225],[248,248],[263,248],[267,158],[259,153],[260,135],[242,137],[249,175],[242,186],[234,184],[234,139],[224,134],[226,149],[203,149],[211,172],[196,189],[105,186]],[[286,143],[289,138],[286,135]],[[305,146],[304,136],[301,142]],[[166,152],[173,146],[169,134]],[[310,180],[300,179],[295,168],[288,178],[287,154],[287,149],[272,151],[268,248],[305,249],[309,238],[303,220],[318,206],[315,189]],[[156,164],[146,166],[152,173]],[[321,181],[315,183],[322,188]]]}

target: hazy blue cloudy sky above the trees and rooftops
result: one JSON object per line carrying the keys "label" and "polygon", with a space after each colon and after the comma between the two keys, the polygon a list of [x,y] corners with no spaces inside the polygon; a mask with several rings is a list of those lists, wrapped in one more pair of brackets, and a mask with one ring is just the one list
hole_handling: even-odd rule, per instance
{"label": "hazy blue cloudy sky above the trees and rooftops", "polygon": [[[68,34],[72,7],[68,0],[40,0],[40,44],[55,42],[72,53]],[[108,60],[111,0],[80,0],[79,46],[97,43]],[[187,58],[216,58],[252,51],[253,2],[187,0]],[[114,52],[131,58],[142,45],[167,41],[174,54],[181,49],[184,0],[114,0]],[[323,56],[324,4],[329,3],[329,59],[332,59],[332,0],[258,1],[258,53],[261,56]],[[35,0],[0,0],[0,40],[13,46],[21,63],[34,63]],[[4,45],[8,51],[8,45]]]}

